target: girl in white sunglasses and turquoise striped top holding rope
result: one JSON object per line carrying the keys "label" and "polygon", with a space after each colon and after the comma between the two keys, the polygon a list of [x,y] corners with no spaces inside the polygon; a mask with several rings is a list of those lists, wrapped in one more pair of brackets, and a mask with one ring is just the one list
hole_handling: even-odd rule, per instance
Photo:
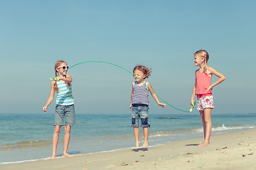
{"label": "girl in white sunglasses and turquoise striped top holding rope", "polygon": [[71,82],[73,81],[70,74],[67,74],[67,63],[60,60],[55,63],[55,81],[51,81],[50,97],[43,106],[43,111],[46,112],[48,106],[53,101],[54,94],[56,92],[56,106],[55,106],[55,118],[53,125],[55,126],[53,132],[53,154],[50,157],[54,159],[56,157],[56,149],[58,145],[58,139],[60,135],[61,126],[65,125],[64,145],[63,145],[63,157],[72,157],[67,153],[68,144],[70,141],[71,125],[75,125],[75,107],[74,98],[72,95]]}

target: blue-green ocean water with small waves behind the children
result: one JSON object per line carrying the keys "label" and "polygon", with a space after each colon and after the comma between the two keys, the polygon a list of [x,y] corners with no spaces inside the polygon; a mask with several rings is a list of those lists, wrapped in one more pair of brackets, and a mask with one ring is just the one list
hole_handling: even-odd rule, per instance
{"label": "blue-green ocean water with small waves behind the children", "polygon": [[[52,153],[54,114],[0,114],[0,166],[49,159]],[[256,128],[256,113],[212,114],[212,135]],[[69,154],[110,152],[134,147],[130,114],[76,114]],[[150,114],[149,146],[202,137],[199,113]],[[143,144],[143,131],[140,140]],[[57,157],[63,152],[64,128],[60,132]]]}

